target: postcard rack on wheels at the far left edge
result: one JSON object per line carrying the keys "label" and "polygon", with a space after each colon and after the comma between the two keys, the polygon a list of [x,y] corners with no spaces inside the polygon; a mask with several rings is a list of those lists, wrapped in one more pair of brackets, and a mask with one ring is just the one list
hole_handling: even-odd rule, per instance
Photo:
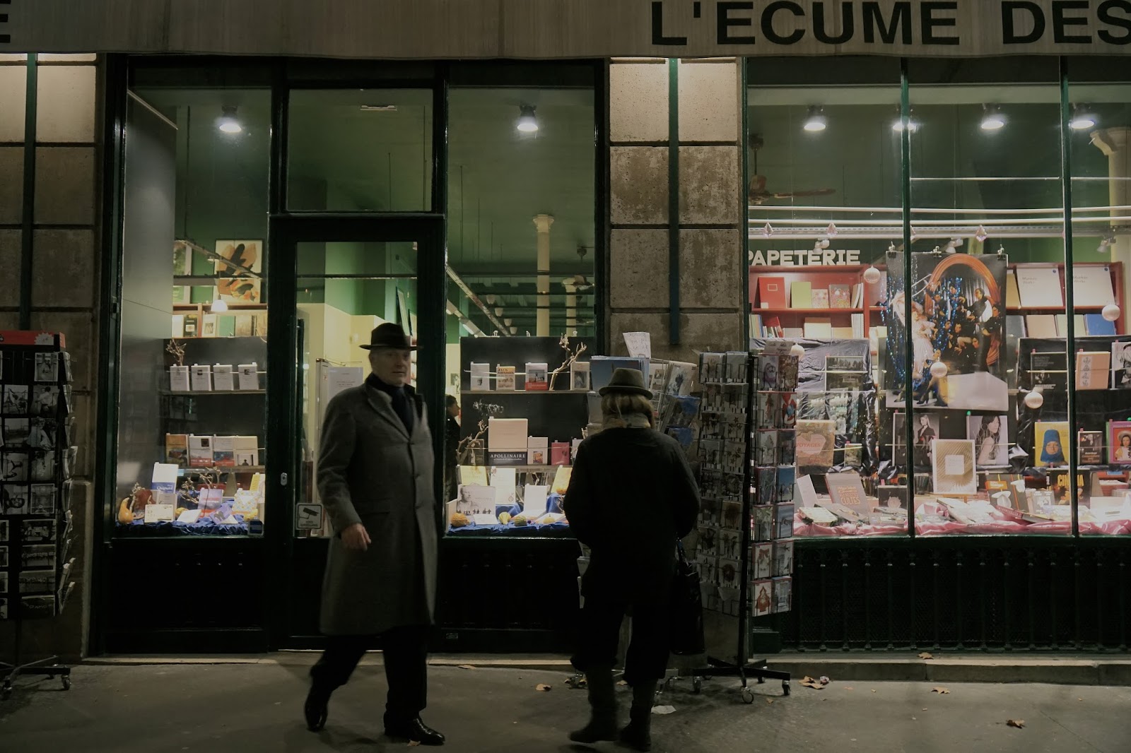
{"label": "postcard rack on wheels at the far left edge", "polygon": [[[0,620],[15,621],[2,696],[20,675],[60,677],[51,656],[21,657],[23,631],[58,616],[75,587],[71,572],[74,436],[70,356],[62,335],[0,331]],[[27,623],[27,625],[25,624]]]}

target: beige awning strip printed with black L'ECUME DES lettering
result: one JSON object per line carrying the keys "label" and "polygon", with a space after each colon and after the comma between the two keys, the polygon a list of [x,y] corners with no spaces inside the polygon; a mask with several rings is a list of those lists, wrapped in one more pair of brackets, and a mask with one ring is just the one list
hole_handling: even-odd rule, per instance
{"label": "beige awning strip printed with black L'ECUME DES lettering", "polygon": [[0,52],[1126,54],[1131,0],[0,0]]}

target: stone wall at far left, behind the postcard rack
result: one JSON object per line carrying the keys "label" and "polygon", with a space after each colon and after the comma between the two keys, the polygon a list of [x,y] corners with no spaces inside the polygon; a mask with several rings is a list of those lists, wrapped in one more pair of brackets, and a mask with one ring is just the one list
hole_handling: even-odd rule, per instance
{"label": "stone wall at far left, behind the postcard rack", "polygon": [[[24,656],[77,657],[86,646],[98,371],[98,67],[93,54],[44,54],[36,64],[35,132],[25,132],[26,55],[0,55],[0,329],[19,328],[31,296],[32,329],[66,335],[74,367],[77,476],[74,509],[77,582],[63,614],[25,623]],[[25,153],[34,149],[35,190],[24,196]],[[21,289],[23,218],[32,209],[32,286]],[[10,595],[9,595],[9,598]],[[12,646],[0,623],[0,647]],[[5,651],[0,650],[0,655]]]}

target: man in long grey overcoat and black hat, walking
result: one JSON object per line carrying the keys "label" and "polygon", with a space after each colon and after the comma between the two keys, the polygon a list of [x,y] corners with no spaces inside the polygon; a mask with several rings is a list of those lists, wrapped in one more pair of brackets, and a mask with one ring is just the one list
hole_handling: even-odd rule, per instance
{"label": "man in long grey overcoat and black hat, walking", "polygon": [[307,725],[316,732],[326,725],[330,693],[379,639],[389,685],[385,734],[442,745],[443,735],[420,718],[440,516],[428,413],[407,384],[416,348],[391,323],[362,347],[372,373],[330,400],[322,425],[318,493],[335,536],[322,581],[327,647],[310,672]]}

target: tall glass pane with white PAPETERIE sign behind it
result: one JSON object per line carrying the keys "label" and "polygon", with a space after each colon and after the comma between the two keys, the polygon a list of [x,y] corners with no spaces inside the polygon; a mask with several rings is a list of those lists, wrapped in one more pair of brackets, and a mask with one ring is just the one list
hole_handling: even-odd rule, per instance
{"label": "tall glass pane with white PAPETERIE sign behind it", "polygon": [[758,432],[756,476],[792,462],[778,449],[795,445],[806,477],[796,536],[903,536],[906,452],[890,413],[877,415],[886,252],[901,234],[899,66],[819,62],[750,62],[751,347],[785,337],[804,348],[796,426]]}

